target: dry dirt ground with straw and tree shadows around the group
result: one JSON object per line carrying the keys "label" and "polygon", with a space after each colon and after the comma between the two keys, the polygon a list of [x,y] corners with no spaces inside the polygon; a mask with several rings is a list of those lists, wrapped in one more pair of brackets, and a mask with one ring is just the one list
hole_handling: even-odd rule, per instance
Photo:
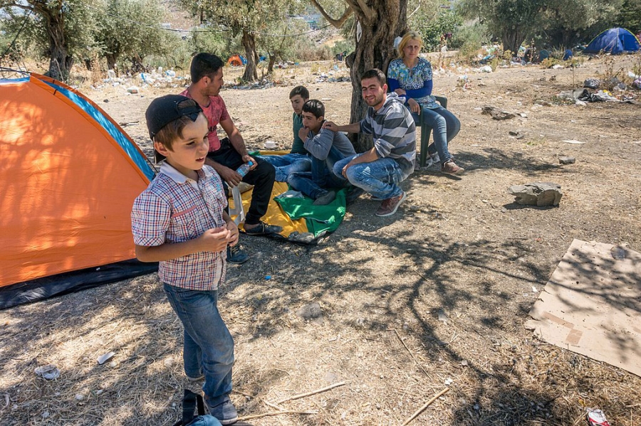
{"label": "dry dirt ground with straw and tree shadows around the group", "polygon": [[[616,68],[631,64],[615,60]],[[279,70],[283,86],[224,90],[247,144],[291,144],[296,84],[325,100],[328,119],[346,123],[350,83],[316,83],[311,74],[332,65]],[[242,236],[251,260],[229,268],[219,302],[236,341],[232,400],[241,416],[279,407],[311,414],[252,422],[401,425],[451,379],[410,425],[584,425],[586,407],[603,409],[613,425],[640,425],[639,377],[523,327],[573,238],[641,250],[641,107],[554,103],[573,80],[605,68],[593,60],[575,71],[470,72],[466,91],[457,73],[437,76],[435,92],[462,121],[451,144],[467,169],[461,179],[416,171],[402,184],[409,199],[388,218],[361,196],[318,246]],[[177,90],[85,92],[119,122],[139,121],[126,129],[149,154],[145,108]],[[499,122],[481,115],[484,105],[527,117]],[[576,163],[561,166],[560,155]],[[560,184],[561,205],[514,204],[507,188],[532,181]],[[311,302],[322,317],[303,321],[296,312]],[[155,274],[0,311],[0,321],[1,425],[172,425],[183,389],[199,388],[182,372],[182,326]],[[108,351],[113,362],[99,366]],[[48,363],[60,368],[57,380],[34,375]]]}

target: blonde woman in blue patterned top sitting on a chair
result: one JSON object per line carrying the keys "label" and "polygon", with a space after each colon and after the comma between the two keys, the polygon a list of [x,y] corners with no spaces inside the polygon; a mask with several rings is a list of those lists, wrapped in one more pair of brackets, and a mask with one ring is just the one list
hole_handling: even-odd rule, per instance
{"label": "blonde woman in blue patterned top sitting on a chair", "polygon": [[424,115],[423,123],[434,129],[434,143],[427,152],[430,156],[438,152],[442,173],[461,174],[464,169],[452,161],[447,150],[447,143],[459,133],[461,122],[432,96],[432,65],[419,57],[422,46],[419,33],[409,31],[403,36],[397,48],[400,58],[392,60],[387,69],[387,84],[390,90],[407,99],[405,105],[416,123]]}

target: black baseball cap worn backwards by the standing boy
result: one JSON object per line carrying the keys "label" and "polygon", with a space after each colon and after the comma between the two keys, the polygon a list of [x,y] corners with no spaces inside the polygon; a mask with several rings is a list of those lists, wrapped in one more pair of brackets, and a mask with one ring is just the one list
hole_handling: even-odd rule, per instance
{"label": "black baseball cap worn backwards by the standing boy", "polygon": [[[179,104],[186,100],[190,100],[189,97],[182,95],[165,95],[152,100],[149,107],[147,107],[147,112],[145,112],[147,129],[149,130],[149,137],[152,141],[163,127],[180,117],[187,116],[192,122],[196,121],[198,115],[202,112],[202,108],[196,101],[193,101],[195,105],[179,107]],[[160,161],[165,159],[165,156],[158,153],[155,149],[154,152],[156,163],[160,163]]]}

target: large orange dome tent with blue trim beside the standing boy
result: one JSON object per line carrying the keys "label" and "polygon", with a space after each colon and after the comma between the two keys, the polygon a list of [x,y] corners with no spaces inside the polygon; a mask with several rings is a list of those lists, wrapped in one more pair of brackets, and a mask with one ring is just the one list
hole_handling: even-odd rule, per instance
{"label": "large orange dome tent with blue trim beside the standing boy", "polygon": [[155,170],[103,110],[43,75],[0,80],[0,309],[150,272],[130,211]]}

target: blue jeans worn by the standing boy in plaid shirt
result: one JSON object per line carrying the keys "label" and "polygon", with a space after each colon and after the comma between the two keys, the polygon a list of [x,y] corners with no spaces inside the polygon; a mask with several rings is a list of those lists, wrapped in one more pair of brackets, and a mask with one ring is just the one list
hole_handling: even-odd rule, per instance
{"label": "blue jeans worn by the standing boy in plaid shirt", "polygon": [[218,312],[218,290],[201,292],[165,284],[165,294],[184,326],[184,372],[204,373],[202,390],[216,400],[231,392],[234,339]]}

